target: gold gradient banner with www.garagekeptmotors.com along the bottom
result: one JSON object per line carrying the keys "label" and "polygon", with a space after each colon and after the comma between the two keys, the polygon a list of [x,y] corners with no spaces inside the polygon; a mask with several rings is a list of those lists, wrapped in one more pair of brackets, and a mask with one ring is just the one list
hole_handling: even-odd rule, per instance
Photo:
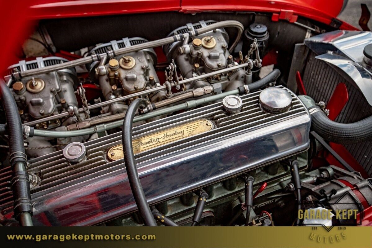
{"label": "gold gradient banner with www.garagekeptmotors.com along the bottom", "polygon": [[372,247],[372,227],[2,227],[1,247]]}

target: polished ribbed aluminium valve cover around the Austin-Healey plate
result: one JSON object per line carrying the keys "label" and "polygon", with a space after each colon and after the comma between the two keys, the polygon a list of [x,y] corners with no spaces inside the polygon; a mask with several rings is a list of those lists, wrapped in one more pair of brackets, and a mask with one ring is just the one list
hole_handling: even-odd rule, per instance
{"label": "polished ribbed aluminium valve cover around the Austin-Healey plate", "polygon": [[[234,115],[226,115],[219,102],[133,128],[135,140],[196,120],[213,123],[210,131],[135,154],[148,202],[158,203],[305,151],[311,117],[290,93],[291,109],[276,115],[260,109],[257,91],[241,97],[242,111]],[[73,165],[62,151],[30,160],[28,172],[41,177],[31,192],[34,225],[94,225],[135,211],[124,160],[107,157],[118,144],[121,132],[86,142],[86,159]],[[0,199],[1,213],[9,218],[11,199],[9,194]]]}

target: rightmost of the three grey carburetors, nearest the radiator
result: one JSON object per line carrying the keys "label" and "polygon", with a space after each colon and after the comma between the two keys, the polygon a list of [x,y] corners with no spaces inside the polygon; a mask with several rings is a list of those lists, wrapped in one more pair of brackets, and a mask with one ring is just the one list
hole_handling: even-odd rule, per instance
{"label": "rightmost of the three grey carburetors, nearest the radiator", "polygon": [[[168,36],[187,33],[195,29],[208,26],[215,23],[214,20],[199,21],[198,23],[187,23],[173,30]],[[185,39],[184,41],[174,42],[171,45],[164,45],[163,51],[169,61],[177,64],[181,74],[185,78],[192,78],[204,73],[210,73],[229,66],[237,65],[233,61],[233,57],[228,51],[229,36],[224,28],[215,29],[213,31],[195,36],[192,40]],[[192,84],[186,84],[186,88],[198,88],[210,83],[221,82],[224,90],[231,90],[242,86],[244,83],[251,83],[251,75],[248,75],[244,70],[237,70],[229,75],[218,74],[207,80],[199,80]],[[221,82],[222,83],[222,82]]]}

